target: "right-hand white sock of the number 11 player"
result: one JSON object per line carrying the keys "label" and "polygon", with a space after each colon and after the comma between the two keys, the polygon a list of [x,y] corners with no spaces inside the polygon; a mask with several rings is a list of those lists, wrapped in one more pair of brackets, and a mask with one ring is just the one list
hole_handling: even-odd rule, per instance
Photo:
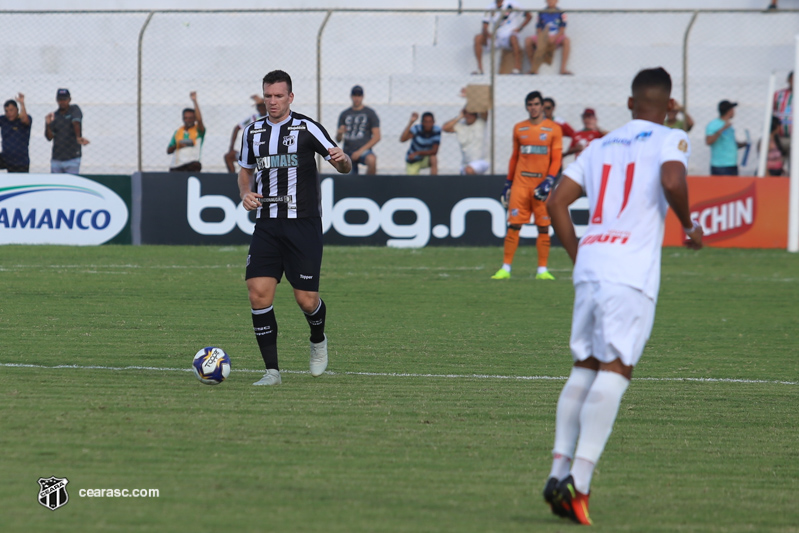
{"label": "right-hand white sock of the number 11 player", "polygon": [[[616,415],[619,412],[621,398],[630,381],[616,372],[601,371],[597,374],[588,396],[580,411],[580,439],[572,465],[572,477],[577,490],[588,493],[591,486],[593,465],[605,449]],[[575,468],[580,463],[579,468]],[[583,463],[590,463],[590,468]]]}

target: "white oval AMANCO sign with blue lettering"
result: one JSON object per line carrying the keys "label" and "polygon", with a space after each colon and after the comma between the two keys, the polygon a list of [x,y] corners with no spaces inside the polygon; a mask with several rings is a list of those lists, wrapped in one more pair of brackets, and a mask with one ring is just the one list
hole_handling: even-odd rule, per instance
{"label": "white oval AMANCO sign with blue lettering", "polygon": [[125,200],[92,179],[72,174],[0,176],[0,244],[96,245],[127,226]]}

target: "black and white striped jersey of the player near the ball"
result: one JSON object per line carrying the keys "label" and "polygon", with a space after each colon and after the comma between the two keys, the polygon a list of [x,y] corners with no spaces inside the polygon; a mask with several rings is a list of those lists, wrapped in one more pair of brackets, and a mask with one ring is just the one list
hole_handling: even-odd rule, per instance
{"label": "black and white striped jersey of the player near the ball", "polygon": [[330,159],[335,146],[321,124],[293,111],[278,124],[263,117],[244,128],[239,164],[257,169],[255,192],[264,197],[256,218],[322,216],[315,157]]}

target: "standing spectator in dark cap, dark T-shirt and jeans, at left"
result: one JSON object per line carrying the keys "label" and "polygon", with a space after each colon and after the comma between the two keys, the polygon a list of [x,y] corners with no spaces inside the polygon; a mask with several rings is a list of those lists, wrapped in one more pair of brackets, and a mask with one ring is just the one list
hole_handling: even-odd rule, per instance
{"label": "standing spectator in dark cap, dark T-shirt and jeans, at left", "polygon": [[77,174],[80,172],[81,146],[89,144],[83,137],[83,113],[72,104],[68,89],[56,92],[58,109],[44,117],[44,136],[53,141],[50,172]]}

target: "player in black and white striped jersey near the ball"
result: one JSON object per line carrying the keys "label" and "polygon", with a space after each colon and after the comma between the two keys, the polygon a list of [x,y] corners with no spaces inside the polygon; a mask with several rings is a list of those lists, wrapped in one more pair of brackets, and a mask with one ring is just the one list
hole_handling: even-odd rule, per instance
{"label": "player in black and white striped jersey near the ball", "polygon": [[322,207],[316,154],[341,174],[352,162],[318,122],[291,110],[291,77],[282,70],[263,79],[266,116],[244,128],[239,156],[239,193],[256,210],[247,255],[252,323],[266,373],[253,385],[279,385],[277,321],[272,303],[283,274],[311,328],[311,375],[327,368],[325,303],[319,297]]}

